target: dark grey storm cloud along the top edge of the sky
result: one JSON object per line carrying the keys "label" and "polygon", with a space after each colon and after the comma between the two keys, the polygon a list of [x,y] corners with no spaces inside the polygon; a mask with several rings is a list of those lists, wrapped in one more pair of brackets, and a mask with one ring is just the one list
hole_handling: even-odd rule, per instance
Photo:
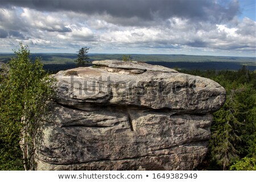
{"label": "dark grey storm cloud along the top edge of the sky", "polygon": [[125,19],[137,17],[142,20],[168,19],[175,16],[221,22],[233,19],[240,12],[238,1],[230,1],[222,5],[212,0],[1,0],[1,5],[29,7],[39,11],[73,11],[88,15],[108,14],[114,18]]}

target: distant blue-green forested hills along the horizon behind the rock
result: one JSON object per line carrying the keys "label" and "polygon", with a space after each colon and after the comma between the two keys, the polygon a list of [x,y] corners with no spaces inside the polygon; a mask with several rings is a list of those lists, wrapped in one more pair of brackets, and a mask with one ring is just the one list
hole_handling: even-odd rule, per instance
{"label": "distant blue-green forested hills along the horizon behind the rock", "polygon": [[[89,61],[122,59],[122,54],[88,54]],[[129,54],[135,61],[143,61],[149,64],[159,64],[170,68],[179,69],[216,69],[237,70],[246,65],[247,69],[256,69],[256,57],[230,57],[230,56],[193,56],[193,55],[142,55]],[[6,63],[15,56],[10,53],[0,53],[0,61]],[[41,57],[44,67],[49,70],[62,70],[75,68],[76,54],[72,53],[32,53],[32,59]],[[91,65],[88,63],[88,65]]]}

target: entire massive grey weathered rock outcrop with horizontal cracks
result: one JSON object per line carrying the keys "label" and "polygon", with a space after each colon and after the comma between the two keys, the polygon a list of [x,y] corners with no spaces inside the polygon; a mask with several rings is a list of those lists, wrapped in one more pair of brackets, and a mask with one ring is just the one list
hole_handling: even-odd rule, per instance
{"label": "entire massive grey weathered rock outcrop with horizontal cracks", "polygon": [[207,78],[116,60],[61,71],[38,170],[188,170],[207,152],[225,90]]}

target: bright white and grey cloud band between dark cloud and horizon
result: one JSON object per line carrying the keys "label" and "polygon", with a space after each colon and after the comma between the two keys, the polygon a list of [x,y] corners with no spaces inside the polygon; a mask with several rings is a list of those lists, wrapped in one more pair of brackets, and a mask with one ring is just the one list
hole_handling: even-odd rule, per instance
{"label": "bright white and grey cloud band between dark cloud and horizon", "polygon": [[[215,14],[211,13],[212,16]],[[93,52],[145,53],[148,50],[150,53],[209,51],[218,54],[226,50],[238,55],[255,53],[256,22],[249,18],[238,20],[233,17],[218,22],[209,17],[197,21],[197,18],[181,14],[148,15],[152,17],[147,19],[138,13],[123,17],[114,16],[114,13],[94,12],[90,15],[65,10],[0,7],[0,49],[10,52],[10,47],[14,48],[13,45],[22,41],[41,52],[50,48],[53,52],[61,48],[64,52],[66,49],[75,52],[78,47],[87,46]],[[197,17],[196,11],[193,16]]]}

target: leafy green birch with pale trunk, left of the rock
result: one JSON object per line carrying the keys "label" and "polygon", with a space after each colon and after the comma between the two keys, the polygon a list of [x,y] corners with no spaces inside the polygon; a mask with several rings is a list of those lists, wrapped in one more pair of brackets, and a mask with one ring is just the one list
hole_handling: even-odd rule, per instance
{"label": "leafy green birch with pale trunk, left of the rock", "polygon": [[27,46],[20,43],[14,52],[16,57],[8,63],[9,71],[0,79],[1,163],[5,163],[0,167],[8,169],[8,164],[22,161],[27,170],[34,151],[32,139],[54,93],[55,78],[44,71],[39,58],[30,59]]}

